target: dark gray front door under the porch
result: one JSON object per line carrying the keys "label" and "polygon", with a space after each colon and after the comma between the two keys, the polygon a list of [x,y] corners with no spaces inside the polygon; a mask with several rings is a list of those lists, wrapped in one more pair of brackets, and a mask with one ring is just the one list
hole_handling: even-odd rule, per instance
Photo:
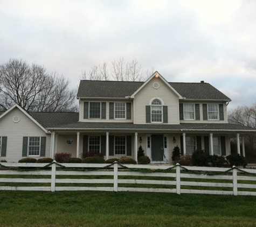
{"label": "dark gray front door under the porch", "polygon": [[163,134],[151,135],[152,161],[163,161]]}

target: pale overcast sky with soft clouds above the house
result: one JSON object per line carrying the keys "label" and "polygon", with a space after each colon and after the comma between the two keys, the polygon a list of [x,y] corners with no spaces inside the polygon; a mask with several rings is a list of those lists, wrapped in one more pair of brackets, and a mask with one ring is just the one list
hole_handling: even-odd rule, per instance
{"label": "pale overcast sky with soft clouds above the house", "polygon": [[229,109],[256,102],[256,1],[0,0],[0,64],[44,65],[79,83],[115,59],[169,82],[212,84]]}

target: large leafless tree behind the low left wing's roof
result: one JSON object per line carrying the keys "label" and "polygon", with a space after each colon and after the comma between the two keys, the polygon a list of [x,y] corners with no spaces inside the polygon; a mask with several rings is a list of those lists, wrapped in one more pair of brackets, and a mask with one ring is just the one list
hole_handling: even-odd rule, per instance
{"label": "large leafless tree behind the low left wing's roof", "polygon": [[27,111],[74,111],[75,90],[70,82],[45,67],[10,59],[0,66],[0,109],[17,103]]}

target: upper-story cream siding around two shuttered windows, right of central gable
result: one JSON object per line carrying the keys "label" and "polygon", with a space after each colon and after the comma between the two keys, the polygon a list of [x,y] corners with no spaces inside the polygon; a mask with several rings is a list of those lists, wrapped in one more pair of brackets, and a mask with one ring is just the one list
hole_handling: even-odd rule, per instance
{"label": "upper-story cream siding around two shuttered windows, right of central gable", "polygon": [[[200,108],[200,120],[179,120],[180,123],[227,123],[227,106],[226,102],[184,102],[180,101],[179,103],[183,104],[199,104]],[[224,120],[203,120],[203,104],[223,104],[224,111]]]}

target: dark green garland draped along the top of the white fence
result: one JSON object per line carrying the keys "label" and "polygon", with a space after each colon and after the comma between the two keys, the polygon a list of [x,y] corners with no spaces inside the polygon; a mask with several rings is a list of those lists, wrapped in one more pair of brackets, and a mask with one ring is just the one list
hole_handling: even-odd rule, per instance
{"label": "dark green garland draped along the top of the white fence", "polygon": [[[22,167],[21,169],[20,168],[15,168],[15,167],[7,167],[7,166],[4,166],[0,163],[0,167],[2,168],[6,168],[8,170],[12,170],[12,171],[20,171],[20,172],[26,172],[26,171],[38,171],[38,170],[41,170],[41,169],[46,169],[47,167],[50,167],[52,164],[56,164],[57,166],[59,167],[63,167],[67,170],[72,170],[72,171],[82,171],[82,172],[89,172],[89,171],[101,171],[103,169],[107,169],[111,166],[113,166],[114,164],[118,164],[119,166],[121,166],[122,168],[124,169],[128,169],[129,171],[131,172],[142,172],[142,173],[166,173],[167,171],[170,171],[171,169],[174,169],[176,168],[177,166],[180,166],[180,165],[175,165],[175,166],[172,166],[172,167],[169,167],[167,169],[136,169],[136,168],[129,168],[127,166],[124,166],[122,164],[119,164],[118,162],[113,162],[112,164],[109,164],[107,166],[104,166],[104,167],[99,167],[99,168],[93,168],[93,169],[81,169],[81,168],[72,168],[72,167],[66,167],[64,165],[61,165],[59,164],[58,162],[56,161],[53,161],[43,167],[38,167],[38,168],[34,168],[34,167]],[[207,172],[207,171],[193,171],[191,169],[188,169],[184,166],[180,166],[185,172],[188,172],[188,173],[192,173],[192,174],[206,174],[206,175],[221,175],[221,174],[225,174],[225,173],[228,173],[228,172],[231,172],[233,169],[237,169],[238,171],[240,172],[243,172],[243,173],[246,173],[246,174],[250,174],[250,175],[253,175],[253,176],[256,176],[256,173],[250,173],[250,172],[247,172],[247,171],[244,171],[243,169],[239,169],[237,168],[236,166],[230,168],[230,169],[227,169],[226,171],[222,171],[222,172],[218,172],[218,173],[212,173],[212,172]]]}

